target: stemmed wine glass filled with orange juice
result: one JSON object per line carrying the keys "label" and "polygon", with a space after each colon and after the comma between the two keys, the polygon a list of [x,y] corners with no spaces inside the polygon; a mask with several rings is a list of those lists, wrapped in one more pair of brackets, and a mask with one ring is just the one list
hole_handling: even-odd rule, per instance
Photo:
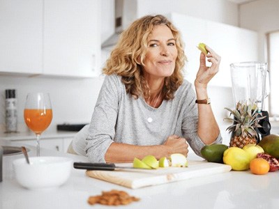
{"label": "stemmed wine glass filled with orange juice", "polygon": [[28,93],[24,107],[24,121],[37,138],[37,156],[40,156],[40,134],[52,122],[52,104],[48,93]]}

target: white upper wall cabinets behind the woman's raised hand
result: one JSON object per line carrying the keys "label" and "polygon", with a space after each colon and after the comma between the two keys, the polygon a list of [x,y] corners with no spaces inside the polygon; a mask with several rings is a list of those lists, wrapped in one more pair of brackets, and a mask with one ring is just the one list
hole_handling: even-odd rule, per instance
{"label": "white upper wall cabinets behind the woman's raised hand", "polygon": [[195,82],[199,69],[199,42],[206,43],[221,56],[219,72],[209,83],[211,86],[232,86],[229,67],[231,63],[257,61],[258,34],[255,31],[176,13],[171,13],[169,18],[181,31],[185,42],[188,58],[185,77],[192,83]]}

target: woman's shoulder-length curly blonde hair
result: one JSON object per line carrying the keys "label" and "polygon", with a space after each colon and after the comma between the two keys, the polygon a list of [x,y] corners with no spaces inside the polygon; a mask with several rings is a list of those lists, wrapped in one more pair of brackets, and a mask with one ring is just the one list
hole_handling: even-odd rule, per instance
{"label": "woman's shoulder-length curly blonde hair", "polygon": [[130,93],[137,99],[140,95],[149,98],[150,89],[143,76],[144,59],[148,49],[148,39],[154,26],[165,24],[172,31],[176,41],[177,58],[174,72],[170,77],[165,78],[163,87],[164,100],[172,100],[174,93],[183,82],[183,66],[186,56],[181,40],[180,32],[163,15],[146,15],[135,20],[126,31],[121,33],[119,42],[116,44],[110,58],[107,59],[103,73],[105,75],[116,74],[121,76],[121,81],[126,87],[126,93]]}

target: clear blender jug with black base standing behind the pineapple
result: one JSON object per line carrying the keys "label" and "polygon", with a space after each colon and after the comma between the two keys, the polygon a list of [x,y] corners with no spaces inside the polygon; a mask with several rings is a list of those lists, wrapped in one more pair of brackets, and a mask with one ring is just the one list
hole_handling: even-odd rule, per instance
{"label": "clear blender jug with black base standing behind the pineapple", "polygon": [[[271,124],[269,113],[264,110],[264,100],[267,97],[266,79],[269,79],[267,63],[242,62],[230,65],[232,76],[232,95],[234,104],[237,102],[254,101],[257,104],[257,111],[265,116],[259,121],[256,131],[258,134],[257,143],[262,137],[270,134]],[[269,80],[268,80],[269,81]]]}

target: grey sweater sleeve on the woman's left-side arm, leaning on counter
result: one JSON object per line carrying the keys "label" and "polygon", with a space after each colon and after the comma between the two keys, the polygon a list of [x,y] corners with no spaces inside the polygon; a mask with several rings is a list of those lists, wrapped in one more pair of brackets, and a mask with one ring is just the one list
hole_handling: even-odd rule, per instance
{"label": "grey sweater sleeve on the woman's left-side arm, leaning on counter", "polygon": [[105,153],[113,143],[119,109],[119,82],[116,76],[105,77],[93,111],[86,153],[91,162],[105,162]]}

